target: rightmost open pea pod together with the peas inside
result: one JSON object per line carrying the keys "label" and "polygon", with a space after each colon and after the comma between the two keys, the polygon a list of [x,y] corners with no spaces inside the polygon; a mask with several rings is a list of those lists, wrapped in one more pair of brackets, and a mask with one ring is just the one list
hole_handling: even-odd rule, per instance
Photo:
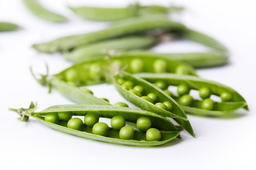
{"label": "rightmost open pea pod together with the peas inside", "polygon": [[[217,82],[170,73],[138,73],[135,75],[151,83],[161,81],[167,86],[177,86],[177,93],[180,96],[174,96],[171,93],[170,95],[181,104],[186,113],[218,116],[232,113],[239,108],[249,110],[245,99],[237,91]],[[191,89],[198,90],[202,100],[194,100],[189,95]],[[211,95],[220,97],[222,102],[214,102],[210,99]]]}

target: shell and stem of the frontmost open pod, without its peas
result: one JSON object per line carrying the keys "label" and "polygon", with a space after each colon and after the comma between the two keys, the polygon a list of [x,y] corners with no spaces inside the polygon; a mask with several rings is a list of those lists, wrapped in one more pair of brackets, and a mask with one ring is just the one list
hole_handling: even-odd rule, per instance
{"label": "shell and stem of the frontmost open pod, without its peas", "polygon": [[[58,105],[46,108],[41,112],[35,112],[36,105],[33,103],[34,108],[29,109],[9,109],[15,111],[20,115],[20,117],[32,116],[39,121],[43,122],[45,125],[71,135],[76,135],[79,137],[84,137],[87,139],[93,139],[98,141],[104,141],[114,144],[124,144],[132,146],[156,146],[164,144],[172,139],[179,137],[180,132],[177,132],[177,128],[173,125],[171,121],[165,117],[159,116],[155,113],[151,113],[145,110],[135,109],[135,108],[125,108],[117,106],[97,106],[97,105]],[[157,128],[161,132],[161,139],[159,141],[147,141],[146,133],[135,130],[134,138],[132,140],[124,140],[119,138],[119,130],[113,130],[110,128],[108,130],[108,135],[106,137],[95,135],[92,133],[92,128],[89,126],[84,126],[82,130],[74,130],[67,128],[67,122],[59,121],[58,124],[51,123],[44,120],[44,116],[48,113],[72,113],[75,116],[85,116],[88,113],[98,115],[99,117],[112,118],[116,115],[122,115],[126,121],[135,123],[139,117],[148,117],[152,121],[152,127]]]}

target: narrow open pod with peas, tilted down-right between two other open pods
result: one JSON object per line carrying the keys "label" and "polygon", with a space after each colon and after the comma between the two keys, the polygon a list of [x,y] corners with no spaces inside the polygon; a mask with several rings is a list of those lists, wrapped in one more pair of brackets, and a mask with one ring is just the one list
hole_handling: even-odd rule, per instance
{"label": "narrow open pod with peas, tilted down-right between two other open pods", "polygon": [[[120,81],[121,80],[121,81]],[[126,82],[132,82],[130,84],[130,87],[126,87],[125,84],[128,84]],[[195,137],[195,134],[193,132],[193,128],[191,127],[191,124],[186,117],[185,112],[180,108],[179,104],[168,96],[164,91],[162,91],[160,88],[157,88],[153,84],[147,82],[144,79],[141,79],[139,77],[135,77],[129,73],[126,72],[120,72],[118,75],[115,75],[112,78],[112,83],[115,85],[117,91],[129,102],[134,104],[135,106],[138,106],[139,108],[143,110],[148,110],[153,113],[157,113],[159,115],[162,115],[164,117],[172,117],[178,124],[180,124],[185,130],[187,130],[193,137]],[[141,86],[142,91],[139,93],[136,92],[136,90],[133,90],[135,86]],[[129,89],[130,88],[130,89]],[[151,99],[148,99],[146,95],[149,93],[154,93],[156,95],[155,101],[151,101]],[[142,96],[142,97],[141,97]],[[161,108],[158,107],[155,103],[163,103],[168,102],[172,106],[172,109],[168,108]],[[161,104],[160,104],[161,105]]]}

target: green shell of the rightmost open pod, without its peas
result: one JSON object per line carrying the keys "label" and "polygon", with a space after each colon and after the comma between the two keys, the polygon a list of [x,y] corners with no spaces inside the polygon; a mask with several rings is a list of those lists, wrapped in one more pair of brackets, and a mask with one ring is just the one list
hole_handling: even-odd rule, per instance
{"label": "green shell of the rightmost open pod, without its peas", "polygon": [[[220,83],[216,83],[213,81],[205,80],[195,76],[189,75],[175,75],[170,73],[138,73],[135,74],[138,77],[141,77],[151,83],[157,80],[163,80],[167,82],[171,86],[178,86],[179,84],[186,84],[190,89],[199,90],[202,87],[207,87],[211,91],[213,95],[220,96],[221,93],[227,92],[231,94],[232,102],[215,102],[213,110],[205,110],[202,109],[202,101],[195,100],[193,102],[193,106],[182,106],[186,113],[200,114],[200,115],[226,115],[228,113],[232,113],[239,108],[248,109],[247,103],[245,99],[234,89],[225,86]],[[174,97],[175,99],[179,99],[179,97]]]}

